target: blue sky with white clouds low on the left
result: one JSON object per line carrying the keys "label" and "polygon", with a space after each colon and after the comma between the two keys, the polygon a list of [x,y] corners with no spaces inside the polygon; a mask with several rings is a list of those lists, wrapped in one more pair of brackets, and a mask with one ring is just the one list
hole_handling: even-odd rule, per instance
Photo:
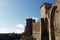
{"label": "blue sky with white clouds low on the left", "polygon": [[22,33],[27,18],[38,20],[40,6],[55,0],[0,0],[0,33]]}

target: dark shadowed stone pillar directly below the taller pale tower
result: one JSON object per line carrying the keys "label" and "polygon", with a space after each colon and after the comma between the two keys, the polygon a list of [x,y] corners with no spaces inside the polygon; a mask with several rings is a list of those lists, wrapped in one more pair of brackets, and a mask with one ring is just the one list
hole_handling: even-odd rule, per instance
{"label": "dark shadowed stone pillar directly below the taller pale tower", "polygon": [[49,40],[49,32],[44,18],[41,18],[41,40]]}

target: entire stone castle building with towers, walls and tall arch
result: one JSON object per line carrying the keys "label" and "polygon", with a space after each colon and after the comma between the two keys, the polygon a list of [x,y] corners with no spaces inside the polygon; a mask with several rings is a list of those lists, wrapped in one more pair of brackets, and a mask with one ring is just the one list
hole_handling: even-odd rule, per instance
{"label": "entire stone castle building with towers, walls and tall arch", "polygon": [[54,5],[44,3],[40,10],[41,18],[37,22],[27,19],[25,32],[37,40],[60,40],[60,0]]}

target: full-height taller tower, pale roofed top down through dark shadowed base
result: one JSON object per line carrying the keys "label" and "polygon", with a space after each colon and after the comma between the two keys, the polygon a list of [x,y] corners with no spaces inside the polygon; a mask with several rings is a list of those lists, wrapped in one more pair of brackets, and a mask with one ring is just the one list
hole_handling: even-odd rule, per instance
{"label": "full-height taller tower, pale roofed top down through dark shadowed base", "polygon": [[41,40],[49,40],[49,26],[47,13],[50,10],[52,5],[50,3],[44,3],[41,9]]}

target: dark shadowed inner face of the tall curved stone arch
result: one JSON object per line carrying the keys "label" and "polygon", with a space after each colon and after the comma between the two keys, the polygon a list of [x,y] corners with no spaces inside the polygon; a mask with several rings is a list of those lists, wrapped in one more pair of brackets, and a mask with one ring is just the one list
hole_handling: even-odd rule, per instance
{"label": "dark shadowed inner face of the tall curved stone arch", "polygon": [[55,40],[55,32],[54,32],[54,16],[55,16],[55,11],[57,9],[57,6],[54,6],[51,11],[51,18],[50,18],[50,29],[51,29],[51,40]]}

